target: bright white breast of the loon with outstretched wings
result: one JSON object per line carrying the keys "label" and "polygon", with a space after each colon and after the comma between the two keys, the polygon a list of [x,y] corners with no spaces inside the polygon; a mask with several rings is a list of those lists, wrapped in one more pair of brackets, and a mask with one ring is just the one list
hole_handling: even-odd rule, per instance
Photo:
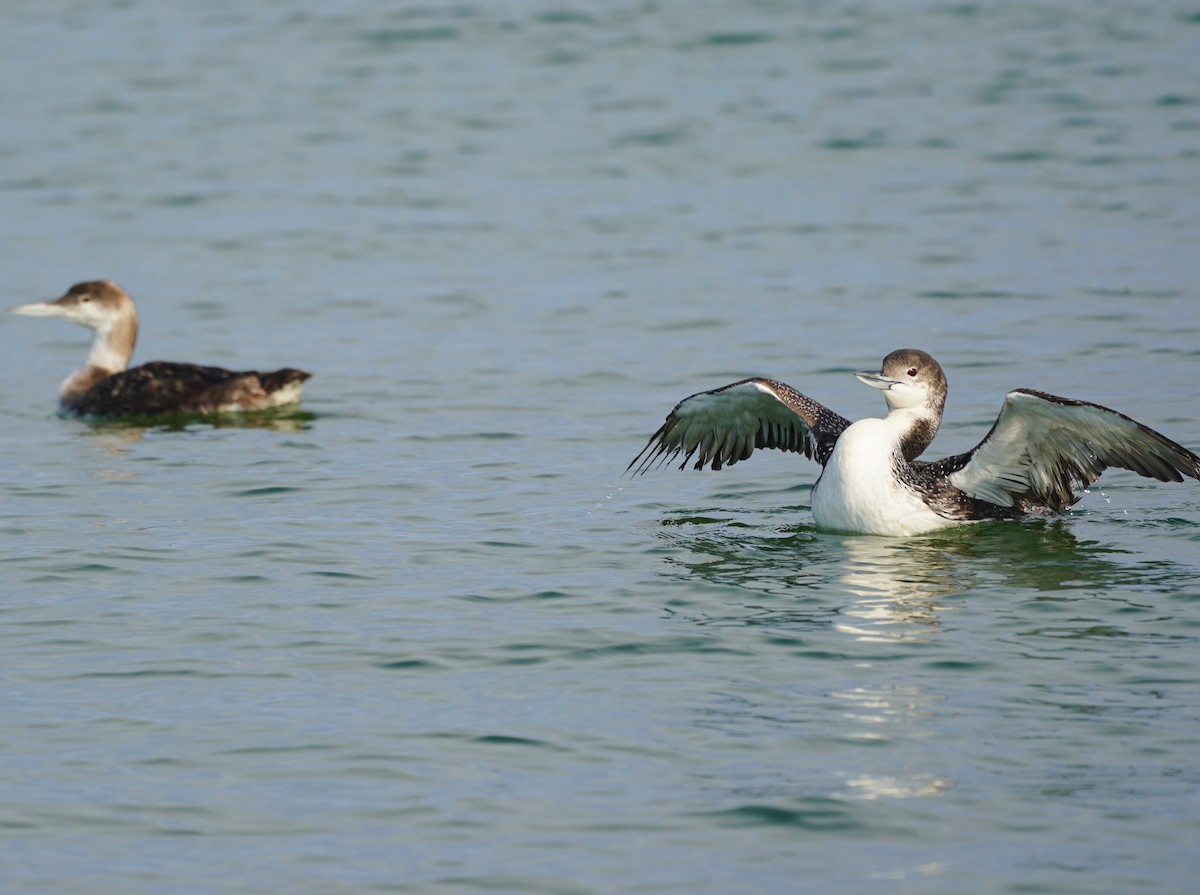
{"label": "bright white breast of the loon with outstretched wings", "polygon": [[827,531],[916,535],[955,524],[926,506],[895,475],[894,453],[907,421],[859,420],[841,433],[812,488],[812,518]]}

